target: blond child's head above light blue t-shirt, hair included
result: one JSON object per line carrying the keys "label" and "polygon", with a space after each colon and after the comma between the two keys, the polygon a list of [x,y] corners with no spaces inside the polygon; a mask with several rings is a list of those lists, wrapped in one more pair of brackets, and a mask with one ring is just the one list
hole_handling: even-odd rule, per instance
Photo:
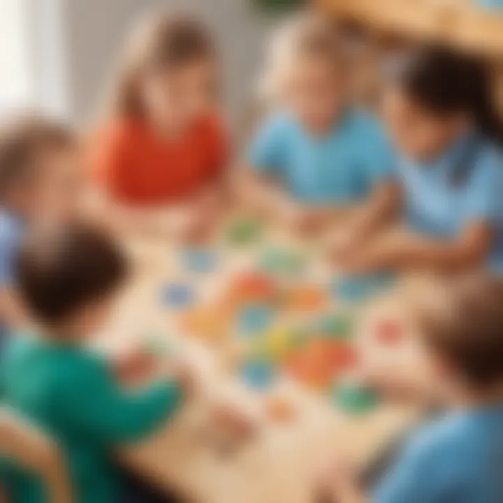
{"label": "blond child's head above light blue t-shirt, hair included", "polygon": [[344,105],[344,57],[330,22],[314,15],[280,27],[272,43],[262,91],[291,108],[314,130],[331,126]]}

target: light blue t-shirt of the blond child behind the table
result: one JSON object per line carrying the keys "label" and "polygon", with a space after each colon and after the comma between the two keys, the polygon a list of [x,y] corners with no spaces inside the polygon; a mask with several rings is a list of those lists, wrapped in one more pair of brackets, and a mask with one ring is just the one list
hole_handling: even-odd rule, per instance
{"label": "light blue t-shirt of the blond child behind the table", "polygon": [[379,122],[360,110],[348,110],[323,137],[312,136],[291,113],[276,112],[258,130],[248,161],[312,204],[365,198],[394,164]]}

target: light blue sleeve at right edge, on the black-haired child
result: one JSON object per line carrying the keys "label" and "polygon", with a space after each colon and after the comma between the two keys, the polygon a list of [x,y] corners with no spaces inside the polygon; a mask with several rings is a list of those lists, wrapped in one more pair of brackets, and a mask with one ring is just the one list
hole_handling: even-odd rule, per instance
{"label": "light blue sleeve at right edge, on the black-haired child", "polygon": [[503,219],[503,155],[496,150],[481,152],[467,182],[468,219],[488,224]]}

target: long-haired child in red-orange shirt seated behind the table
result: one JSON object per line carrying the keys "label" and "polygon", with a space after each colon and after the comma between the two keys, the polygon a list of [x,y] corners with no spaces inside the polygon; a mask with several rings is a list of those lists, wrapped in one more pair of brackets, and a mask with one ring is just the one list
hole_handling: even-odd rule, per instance
{"label": "long-haired child in red-orange shirt seated behind the table", "polygon": [[119,227],[189,238],[215,217],[226,161],[205,27],[156,13],[133,36],[92,167]]}

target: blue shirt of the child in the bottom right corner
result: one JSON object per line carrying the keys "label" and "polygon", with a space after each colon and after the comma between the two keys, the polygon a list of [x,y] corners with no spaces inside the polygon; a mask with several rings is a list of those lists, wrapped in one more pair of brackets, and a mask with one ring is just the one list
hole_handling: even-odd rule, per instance
{"label": "blue shirt of the child in the bottom right corner", "polygon": [[375,503],[503,501],[503,404],[423,428],[375,488]]}

